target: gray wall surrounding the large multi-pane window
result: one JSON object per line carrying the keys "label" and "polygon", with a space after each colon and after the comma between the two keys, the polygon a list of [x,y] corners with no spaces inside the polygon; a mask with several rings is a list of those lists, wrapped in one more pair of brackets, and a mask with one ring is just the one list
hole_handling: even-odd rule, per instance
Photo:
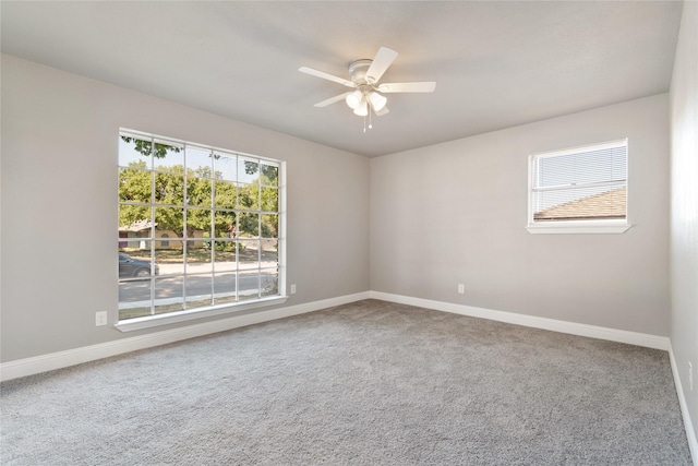
{"label": "gray wall surrounding the large multi-pane window", "polygon": [[2,361],[139,334],[95,327],[117,319],[120,127],[286,160],[287,306],[369,289],[366,158],[2,56]]}

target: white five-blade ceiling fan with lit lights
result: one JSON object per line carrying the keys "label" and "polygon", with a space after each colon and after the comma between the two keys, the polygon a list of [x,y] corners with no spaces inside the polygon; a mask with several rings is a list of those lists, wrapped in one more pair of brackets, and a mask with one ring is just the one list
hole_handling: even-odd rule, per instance
{"label": "white five-blade ceiling fan with lit lights", "polygon": [[[322,77],[323,80],[333,81],[354,89],[330,97],[326,100],[318,101],[315,104],[315,107],[326,107],[344,99],[349,108],[360,117],[365,117],[368,115],[369,118],[371,118],[371,110],[380,117],[389,111],[386,107],[387,98],[383,94],[431,93],[436,88],[435,82],[378,84],[378,81],[396,57],[397,52],[395,50],[387,47],[381,47],[373,60],[362,59],[349,64],[349,74],[351,80],[345,80],[344,77],[338,77],[308,67],[301,67],[298,71],[312,76]],[[369,124],[369,128],[371,128],[371,124]],[[365,122],[363,131],[365,131]]]}

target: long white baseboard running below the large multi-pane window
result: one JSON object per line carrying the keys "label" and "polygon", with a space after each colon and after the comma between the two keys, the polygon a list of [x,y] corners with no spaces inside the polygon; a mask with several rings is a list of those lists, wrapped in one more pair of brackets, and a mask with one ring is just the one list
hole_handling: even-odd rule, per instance
{"label": "long white baseboard running below the large multi-pane window", "polygon": [[340,296],[337,298],[324,299],[321,301],[306,302],[303,304],[287,306],[268,311],[257,311],[249,314],[232,315],[228,319],[220,319],[194,325],[186,325],[178,328],[154,332],[146,335],[139,335],[129,338],[116,339],[113,342],[98,345],[84,346],[65,351],[51,353],[33,358],[19,359],[15,361],[0,363],[0,380],[12,380],[21,377],[33,375],[56,369],[67,368],[83,362],[95,361],[110,356],[122,355],[124,353],[139,349],[152,348],[166,345],[168,343],[195,338],[197,336],[225,332],[227,330],[258,324],[292,315],[304,314],[321,309],[341,306],[349,302],[368,299],[369,292]]}

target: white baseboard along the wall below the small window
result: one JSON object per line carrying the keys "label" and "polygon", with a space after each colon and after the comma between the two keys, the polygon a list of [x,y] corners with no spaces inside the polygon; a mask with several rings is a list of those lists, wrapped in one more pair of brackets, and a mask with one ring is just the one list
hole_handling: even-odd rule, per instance
{"label": "white baseboard along the wall below the small window", "polygon": [[412,298],[409,296],[392,295],[381,291],[369,291],[369,295],[373,299],[417,306],[444,312],[453,312],[455,314],[468,315],[471,318],[489,319],[491,321],[550,330],[553,332],[587,336],[590,338],[606,339],[610,342],[627,343],[630,345],[645,346],[647,348],[663,349],[665,351],[669,351],[670,348],[670,340],[666,336],[648,335],[616,328],[558,321],[555,319],[537,318],[533,315],[517,314],[514,312],[494,311],[491,309],[474,308],[472,306],[454,304],[452,302],[433,301],[430,299]]}

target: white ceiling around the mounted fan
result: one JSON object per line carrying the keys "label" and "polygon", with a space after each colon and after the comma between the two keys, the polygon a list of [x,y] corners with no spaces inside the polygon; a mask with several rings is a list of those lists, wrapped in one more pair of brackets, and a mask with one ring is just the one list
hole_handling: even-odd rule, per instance
{"label": "white ceiling around the mounted fan", "polygon": [[[681,2],[1,3],[2,51],[365,156],[380,156],[669,91]],[[363,121],[342,77],[381,46],[399,56]]]}

